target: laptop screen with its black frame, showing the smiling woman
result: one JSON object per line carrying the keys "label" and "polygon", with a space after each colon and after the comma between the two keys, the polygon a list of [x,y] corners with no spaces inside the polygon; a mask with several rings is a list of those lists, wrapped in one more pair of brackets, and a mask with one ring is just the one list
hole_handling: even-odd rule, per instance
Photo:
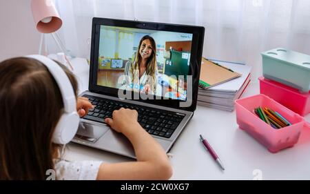
{"label": "laptop screen with its black frame, showing the smiling woman", "polygon": [[203,33],[196,26],[94,18],[90,90],[116,96],[121,89],[174,106],[171,100],[187,101],[193,76],[196,103]]}

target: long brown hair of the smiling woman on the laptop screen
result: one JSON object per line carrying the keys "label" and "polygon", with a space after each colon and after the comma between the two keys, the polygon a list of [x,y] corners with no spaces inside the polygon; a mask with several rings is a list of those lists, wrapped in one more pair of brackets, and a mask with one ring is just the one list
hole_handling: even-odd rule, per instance
{"label": "long brown hair of the smiling woman on the laptop screen", "polygon": [[156,72],[156,69],[157,69],[156,43],[155,43],[154,39],[152,37],[150,37],[149,35],[145,35],[140,40],[140,43],[139,43],[139,46],[138,46],[138,50],[136,52],[136,57],[134,57],[134,65],[130,69],[130,72],[132,73],[132,79],[134,79],[134,70],[138,70],[139,69],[139,64],[141,63],[141,55],[139,53],[140,52],[140,48],[141,48],[141,44],[142,44],[142,42],[145,39],[149,39],[149,41],[151,41],[151,43],[152,43],[152,55],[151,55],[151,57],[149,57],[147,59],[146,74],[147,75],[151,75],[153,80],[156,80],[156,76],[155,76],[155,72]]}

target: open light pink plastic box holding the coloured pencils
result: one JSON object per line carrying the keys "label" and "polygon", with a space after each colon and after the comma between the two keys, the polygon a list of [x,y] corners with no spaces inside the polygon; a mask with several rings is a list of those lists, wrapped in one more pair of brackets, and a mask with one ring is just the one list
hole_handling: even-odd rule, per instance
{"label": "open light pink plastic box holding the coloured pencils", "polygon": [[[285,117],[291,126],[275,129],[262,121],[254,113],[254,108],[268,107]],[[292,147],[298,142],[302,128],[310,129],[310,124],[300,115],[282,106],[266,95],[256,95],[236,100],[237,123],[242,130],[266,146],[271,153]]]}

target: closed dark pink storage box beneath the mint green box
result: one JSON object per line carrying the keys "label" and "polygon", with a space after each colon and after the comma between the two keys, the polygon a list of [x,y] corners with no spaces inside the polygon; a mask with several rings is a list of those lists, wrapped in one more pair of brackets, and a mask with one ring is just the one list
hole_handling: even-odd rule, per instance
{"label": "closed dark pink storage box beneath the mint green box", "polygon": [[295,88],[264,77],[260,77],[259,80],[261,94],[271,97],[299,115],[310,113],[310,92],[300,93]]}

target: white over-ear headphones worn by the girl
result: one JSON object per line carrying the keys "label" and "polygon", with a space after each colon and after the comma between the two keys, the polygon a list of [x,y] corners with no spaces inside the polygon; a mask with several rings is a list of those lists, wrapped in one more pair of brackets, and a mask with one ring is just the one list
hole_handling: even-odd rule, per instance
{"label": "white over-ear headphones worn by the girl", "polygon": [[76,134],[80,120],[78,113],[76,113],[76,97],[74,95],[72,84],[63,69],[56,64],[55,61],[52,61],[52,59],[42,55],[28,55],[26,57],[40,61],[46,68],[48,68],[56,80],[63,98],[65,112],[61,115],[61,118],[56,125],[52,142],[55,144],[67,144]]}

